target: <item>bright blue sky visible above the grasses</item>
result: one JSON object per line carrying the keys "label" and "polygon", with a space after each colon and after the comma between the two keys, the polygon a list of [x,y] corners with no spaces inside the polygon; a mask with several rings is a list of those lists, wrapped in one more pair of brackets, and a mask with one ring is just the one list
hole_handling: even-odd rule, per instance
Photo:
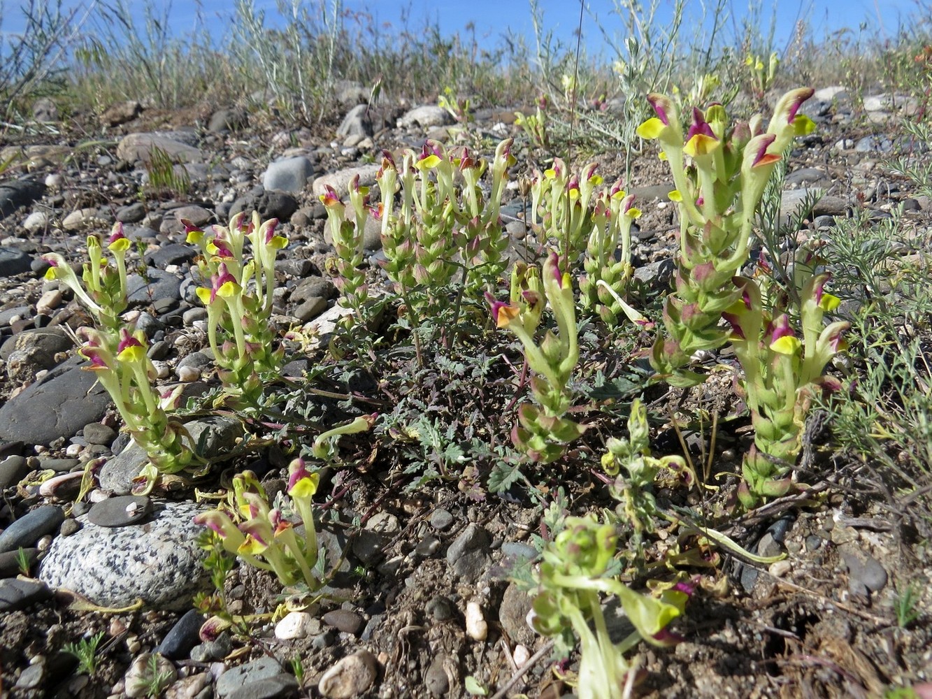
{"label": "bright blue sky visible above the grasses", "polygon": [[[169,5],[158,0],[124,0],[131,11],[142,18],[144,7],[161,8]],[[643,5],[650,5],[650,0],[641,0]],[[5,34],[19,33],[23,21],[19,7],[25,0],[0,0],[0,31]],[[38,0],[41,4],[53,0]],[[88,7],[94,0],[62,0],[62,7],[78,5]],[[290,3],[290,0],[288,0]],[[313,7],[318,0],[305,0]],[[328,4],[331,0],[326,0]],[[579,5],[576,0],[538,0],[543,12],[544,24],[553,30],[557,38],[569,44],[579,21]],[[621,0],[585,0],[588,11],[583,15],[583,36],[586,46],[592,54],[598,54],[603,47],[601,33],[596,26],[601,24],[610,34],[620,32],[622,24],[611,13],[611,8],[622,4]],[[730,12],[737,23],[747,16],[748,3],[757,5],[760,0],[730,0]],[[669,21],[669,9],[672,0],[662,0],[662,10],[658,16],[661,21]],[[707,6],[714,6],[715,0],[705,0]],[[255,0],[255,6],[266,10],[268,21],[276,21],[277,5],[275,0]],[[686,0],[687,12],[691,21],[701,16],[703,0]],[[857,30],[860,22],[868,24],[869,32],[881,30],[887,35],[896,34],[901,22],[908,21],[922,11],[929,11],[929,0],[770,0],[761,3],[761,20],[766,25],[771,17],[776,17],[776,47],[782,48],[792,33],[795,21],[804,18],[812,27],[816,38],[835,32],[843,27]],[[172,30],[184,35],[200,16],[208,25],[223,26],[234,16],[233,0],[174,0],[171,3],[170,22]],[[418,27],[425,20],[437,22],[444,33],[453,34],[461,31],[468,22],[473,22],[480,42],[487,47],[494,46],[500,37],[511,29],[514,35],[523,35],[532,44],[533,30],[530,19],[528,0],[343,0],[343,7],[349,12],[368,11],[379,22],[391,22],[398,27],[405,13],[409,15],[409,24]]]}

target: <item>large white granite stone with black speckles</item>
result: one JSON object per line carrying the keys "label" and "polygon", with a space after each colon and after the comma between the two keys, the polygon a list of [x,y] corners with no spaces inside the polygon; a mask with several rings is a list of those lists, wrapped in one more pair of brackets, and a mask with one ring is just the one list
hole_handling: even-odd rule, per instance
{"label": "large white granite stone with black speckles", "polygon": [[206,552],[193,522],[202,508],[188,502],[155,506],[144,524],[105,528],[77,517],[82,528],[58,537],[39,565],[39,579],[72,590],[102,607],[127,607],[137,599],[153,609],[185,610],[207,582]]}

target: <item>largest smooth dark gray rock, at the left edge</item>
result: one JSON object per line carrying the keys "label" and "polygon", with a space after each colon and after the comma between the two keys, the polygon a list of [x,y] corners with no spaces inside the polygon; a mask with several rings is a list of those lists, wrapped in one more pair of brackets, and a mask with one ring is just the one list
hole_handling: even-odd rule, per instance
{"label": "largest smooth dark gray rock, at the left edge", "polygon": [[48,445],[103,418],[110,396],[86,365],[72,357],[0,407],[0,439]]}

